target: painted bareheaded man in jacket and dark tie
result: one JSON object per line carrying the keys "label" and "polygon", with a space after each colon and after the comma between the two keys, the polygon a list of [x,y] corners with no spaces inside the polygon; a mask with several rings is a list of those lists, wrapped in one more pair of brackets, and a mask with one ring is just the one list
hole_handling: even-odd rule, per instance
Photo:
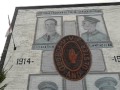
{"label": "painted bareheaded man in jacket and dark tie", "polygon": [[45,34],[35,40],[35,44],[42,43],[56,43],[61,36],[56,32],[57,21],[53,18],[44,21],[45,24]]}

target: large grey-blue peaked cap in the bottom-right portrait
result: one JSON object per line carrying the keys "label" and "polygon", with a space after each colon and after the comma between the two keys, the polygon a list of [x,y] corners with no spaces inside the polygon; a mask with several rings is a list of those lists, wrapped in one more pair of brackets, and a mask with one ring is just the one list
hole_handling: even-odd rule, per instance
{"label": "large grey-blue peaked cap in the bottom-right portrait", "polygon": [[113,77],[103,77],[95,82],[95,86],[98,88],[102,87],[115,87],[117,85],[117,80]]}

